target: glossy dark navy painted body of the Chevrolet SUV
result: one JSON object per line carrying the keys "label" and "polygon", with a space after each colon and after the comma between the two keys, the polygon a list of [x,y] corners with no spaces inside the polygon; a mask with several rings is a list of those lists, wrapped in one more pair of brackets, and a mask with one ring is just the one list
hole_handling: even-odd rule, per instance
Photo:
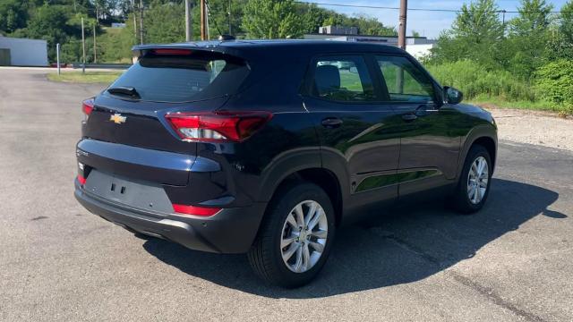
{"label": "glossy dark navy painted body of the Chevrolet SUV", "polygon": [[[172,239],[190,248],[246,251],[267,203],[286,180],[310,180],[329,191],[341,214],[339,225],[410,194],[454,185],[466,152],[476,140],[490,145],[495,158],[497,134],[491,114],[475,106],[443,103],[440,85],[396,47],[271,40],[147,45],[135,51],[145,53],[155,47],[233,55],[244,59],[250,72],[235,94],[201,101],[154,103],[99,95],[94,112],[82,125],[78,161],[84,169],[80,174],[89,176],[90,169],[97,169],[126,180],[150,182],[161,187],[171,203],[225,208],[221,212],[225,215],[214,217],[226,220],[242,216],[241,209],[252,214],[248,225],[253,227],[243,235],[226,231],[224,236],[209,225],[203,229],[200,222],[193,222],[193,232],[201,230],[201,237],[190,238],[202,241],[193,243],[178,230]],[[377,99],[336,102],[312,94],[312,62],[317,56],[338,53],[364,57]],[[433,102],[384,99],[381,74],[373,63],[376,55],[410,60],[432,80]],[[182,141],[164,117],[172,112],[246,110],[269,111],[273,117],[241,143]],[[109,121],[116,113],[127,116],[127,121]],[[137,226],[132,227],[135,230],[145,228],[145,220],[136,221],[133,216],[124,220],[124,212],[115,211],[114,203],[93,201],[82,189],[76,186],[76,197],[86,208],[122,225]],[[231,212],[232,216],[227,215]],[[160,225],[152,226],[161,234]],[[213,236],[227,240],[216,241]],[[229,246],[234,242],[240,247]]]}

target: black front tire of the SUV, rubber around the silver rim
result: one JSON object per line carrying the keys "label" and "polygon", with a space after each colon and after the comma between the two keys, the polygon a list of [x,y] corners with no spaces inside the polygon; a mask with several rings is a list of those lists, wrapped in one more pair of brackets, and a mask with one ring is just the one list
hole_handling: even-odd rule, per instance
{"label": "black front tire of the SUV, rubber around the silver rim", "polygon": [[[483,157],[487,162],[488,166],[488,175],[487,175],[487,185],[485,189],[485,193],[483,194],[483,198],[474,203],[470,200],[468,195],[467,185],[468,185],[468,174],[471,170],[472,165],[474,164],[475,160],[479,157]],[[490,187],[492,185],[492,158],[490,157],[490,153],[487,151],[486,148],[483,148],[481,145],[475,145],[467,152],[466,161],[464,162],[464,168],[462,169],[462,173],[458,180],[458,186],[456,187],[456,191],[453,195],[452,206],[458,212],[462,214],[473,214],[476,211],[483,208],[488,195],[490,194]]]}

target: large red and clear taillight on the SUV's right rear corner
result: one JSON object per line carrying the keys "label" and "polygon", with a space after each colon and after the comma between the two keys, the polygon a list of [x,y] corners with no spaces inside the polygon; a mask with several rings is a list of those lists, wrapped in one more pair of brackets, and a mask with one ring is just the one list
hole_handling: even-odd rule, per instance
{"label": "large red and clear taillight on the SUV's right rear corner", "polygon": [[182,140],[242,141],[269,122],[269,112],[170,113],[165,115]]}

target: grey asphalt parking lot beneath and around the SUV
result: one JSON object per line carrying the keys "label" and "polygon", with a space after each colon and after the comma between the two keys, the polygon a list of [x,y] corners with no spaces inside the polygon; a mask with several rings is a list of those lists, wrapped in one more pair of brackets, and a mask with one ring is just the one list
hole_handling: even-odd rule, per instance
{"label": "grey asphalt parking lot beneath and around the SUV", "polygon": [[[503,140],[488,204],[340,231],[319,278],[140,239],[73,198],[80,102],[101,85],[0,69],[0,320],[573,320],[573,152]],[[571,138],[570,140],[573,140]]]}

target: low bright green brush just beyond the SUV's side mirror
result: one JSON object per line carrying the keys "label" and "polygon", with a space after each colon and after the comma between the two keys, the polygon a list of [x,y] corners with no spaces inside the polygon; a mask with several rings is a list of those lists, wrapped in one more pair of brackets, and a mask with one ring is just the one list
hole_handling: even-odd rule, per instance
{"label": "low bright green brush just beyond the SUV's side mirror", "polygon": [[507,71],[487,71],[468,60],[426,66],[442,86],[461,90],[464,97],[497,97],[508,101],[535,101],[535,89]]}

